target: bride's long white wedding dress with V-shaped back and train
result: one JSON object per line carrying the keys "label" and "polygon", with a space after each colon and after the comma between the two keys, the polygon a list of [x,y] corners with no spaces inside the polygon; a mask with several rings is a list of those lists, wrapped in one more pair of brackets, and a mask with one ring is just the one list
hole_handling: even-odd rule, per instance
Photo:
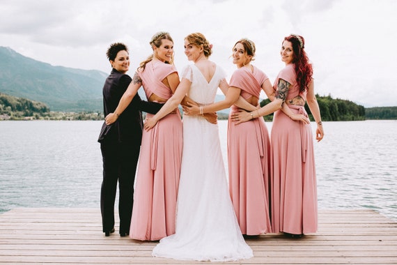
{"label": "bride's long white wedding dress with V-shaped back and train", "polygon": [[[217,66],[208,83],[192,65],[185,68],[182,77],[192,82],[189,98],[206,105],[214,102],[225,74]],[[153,256],[212,262],[253,257],[228,192],[218,126],[202,116],[183,116],[176,234],[162,239]]]}

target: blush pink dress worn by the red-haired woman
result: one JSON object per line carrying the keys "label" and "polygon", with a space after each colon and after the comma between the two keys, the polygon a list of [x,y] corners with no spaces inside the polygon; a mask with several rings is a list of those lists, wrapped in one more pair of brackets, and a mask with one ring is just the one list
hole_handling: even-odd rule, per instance
{"label": "blush pink dress worn by the red-haired woman", "polygon": [[[286,98],[301,96],[294,65],[277,76],[291,84]],[[294,113],[307,113],[303,106],[288,105]],[[308,234],[317,232],[317,184],[311,125],[293,121],[281,110],[272,124],[272,227],[273,232]]]}

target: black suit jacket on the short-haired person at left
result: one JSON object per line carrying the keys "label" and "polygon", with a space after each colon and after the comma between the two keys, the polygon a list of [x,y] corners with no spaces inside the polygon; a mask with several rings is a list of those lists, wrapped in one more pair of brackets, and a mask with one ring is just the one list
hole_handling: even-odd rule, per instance
{"label": "black suit jacket on the short-haired person at left", "polygon": [[[131,81],[129,75],[120,73],[116,69],[111,70],[102,91],[105,117],[116,110],[120,98]],[[156,114],[163,105],[141,100],[137,93],[115,123],[110,126],[107,126],[106,123],[102,124],[98,142],[136,142],[141,144],[143,130],[141,111]]]}

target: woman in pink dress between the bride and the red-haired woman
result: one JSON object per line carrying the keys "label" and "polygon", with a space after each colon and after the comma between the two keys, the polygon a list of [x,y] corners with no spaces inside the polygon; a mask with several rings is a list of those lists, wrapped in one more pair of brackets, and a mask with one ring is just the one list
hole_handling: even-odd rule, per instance
{"label": "woman in pink dress between the bride and the red-haired woman", "polygon": [[[243,38],[233,47],[233,73],[226,98],[211,105],[186,107],[189,115],[215,112],[233,105],[238,97],[258,106],[259,94],[272,93],[272,85],[263,71],[251,65],[255,44]],[[233,106],[232,106],[233,105]],[[185,110],[185,109],[184,109]],[[272,232],[269,216],[270,199],[270,140],[265,121],[252,119],[237,125],[228,121],[228,179],[229,192],[242,234],[256,236]]]}

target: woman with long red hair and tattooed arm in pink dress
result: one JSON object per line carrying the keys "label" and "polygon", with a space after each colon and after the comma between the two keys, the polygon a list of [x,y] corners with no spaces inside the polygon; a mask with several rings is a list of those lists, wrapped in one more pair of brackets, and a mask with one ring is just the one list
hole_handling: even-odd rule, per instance
{"label": "woman with long red hair and tattooed arm in pink dress", "polygon": [[[304,38],[291,34],[283,40],[281,61],[286,67],[274,81],[272,125],[272,227],[291,238],[317,232],[317,184],[311,125],[304,109],[307,102],[316,121],[316,139],[324,137],[320,109],[313,85],[313,70],[304,51]],[[235,114],[238,122],[273,112],[270,106]]]}

